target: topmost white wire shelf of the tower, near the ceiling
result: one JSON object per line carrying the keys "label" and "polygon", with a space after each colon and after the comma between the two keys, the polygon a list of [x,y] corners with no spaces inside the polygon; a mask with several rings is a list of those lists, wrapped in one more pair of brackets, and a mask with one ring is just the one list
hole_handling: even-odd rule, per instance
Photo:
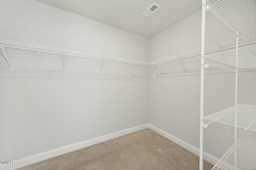
{"label": "topmost white wire shelf of the tower, near the ceiling", "polygon": [[255,0],[206,0],[210,12],[238,37],[256,30]]}

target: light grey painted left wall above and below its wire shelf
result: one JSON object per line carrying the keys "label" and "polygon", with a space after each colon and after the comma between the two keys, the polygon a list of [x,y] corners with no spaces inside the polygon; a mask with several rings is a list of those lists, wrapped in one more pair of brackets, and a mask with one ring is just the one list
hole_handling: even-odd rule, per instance
{"label": "light grey painted left wall above and below its wire shelf", "polygon": [[[148,60],[148,38],[34,0],[0,4],[0,39]],[[84,76],[83,64],[67,64],[63,74],[62,63],[10,61],[13,71],[0,55],[0,160],[148,123],[146,81]]]}

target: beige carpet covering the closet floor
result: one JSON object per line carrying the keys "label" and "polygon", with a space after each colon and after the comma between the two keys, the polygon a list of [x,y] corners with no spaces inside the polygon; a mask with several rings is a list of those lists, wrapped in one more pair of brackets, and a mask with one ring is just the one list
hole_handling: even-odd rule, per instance
{"label": "beige carpet covering the closet floor", "polygon": [[[205,170],[212,166],[204,162]],[[19,170],[199,170],[199,157],[144,129]]]}

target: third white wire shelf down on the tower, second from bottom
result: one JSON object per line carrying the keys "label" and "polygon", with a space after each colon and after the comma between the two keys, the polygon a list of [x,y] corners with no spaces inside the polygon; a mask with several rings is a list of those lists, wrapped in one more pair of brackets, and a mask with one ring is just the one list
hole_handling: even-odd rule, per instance
{"label": "third white wire shelf down on the tower, second from bottom", "polygon": [[219,122],[256,131],[256,105],[238,104],[228,109],[208,115],[203,118],[204,127],[212,122]]}

